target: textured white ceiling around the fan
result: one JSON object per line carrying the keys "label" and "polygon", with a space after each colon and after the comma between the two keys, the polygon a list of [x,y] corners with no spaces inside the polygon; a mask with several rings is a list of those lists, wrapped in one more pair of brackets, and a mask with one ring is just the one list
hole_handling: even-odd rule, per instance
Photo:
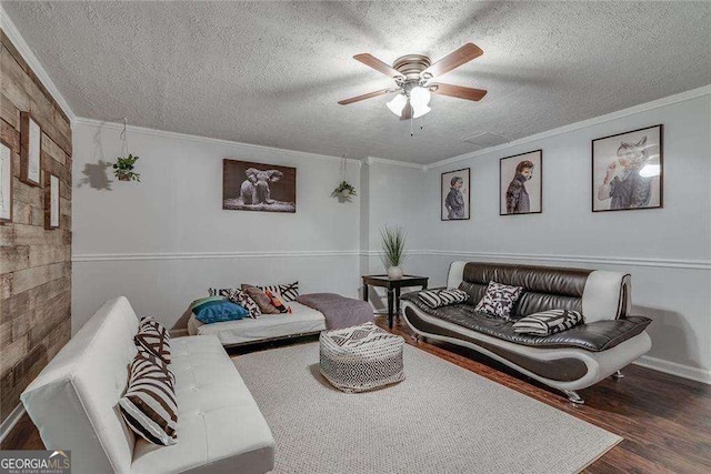
{"label": "textured white ceiling around the fan", "polygon": [[[711,82],[709,2],[2,2],[80,117],[360,159],[417,163]],[[441,78],[410,137],[391,80],[351,59],[484,54]]]}

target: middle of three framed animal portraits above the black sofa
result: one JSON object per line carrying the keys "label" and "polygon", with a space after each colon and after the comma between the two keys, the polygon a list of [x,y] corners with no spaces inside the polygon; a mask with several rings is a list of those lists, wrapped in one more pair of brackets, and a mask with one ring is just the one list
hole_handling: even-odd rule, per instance
{"label": "middle of three framed animal portraits above the black sofa", "polygon": [[499,160],[499,214],[543,211],[543,150]]}

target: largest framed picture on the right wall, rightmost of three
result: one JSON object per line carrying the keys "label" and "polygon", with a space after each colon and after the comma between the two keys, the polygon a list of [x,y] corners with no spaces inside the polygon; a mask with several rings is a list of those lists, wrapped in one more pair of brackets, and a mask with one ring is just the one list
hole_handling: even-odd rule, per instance
{"label": "largest framed picture on the right wall, rightmost of three", "polygon": [[664,125],[592,141],[592,212],[662,208]]}

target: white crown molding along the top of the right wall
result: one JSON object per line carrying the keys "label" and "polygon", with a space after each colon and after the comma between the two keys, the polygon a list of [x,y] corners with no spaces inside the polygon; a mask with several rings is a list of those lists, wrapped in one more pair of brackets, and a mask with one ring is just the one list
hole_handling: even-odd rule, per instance
{"label": "white crown molding along the top of the right wall", "polygon": [[550,137],[560,135],[562,133],[572,132],[574,130],[584,129],[587,127],[597,125],[600,123],[605,123],[611,120],[621,119],[623,117],[632,115],[640,112],[645,112],[648,110],[658,109],[664,105],[671,105],[678,102],[683,102],[687,100],[697,99],[703,95],[711,94],[711,84],[703,85],[698,89],[692,89],[689,91],[684,91],[674,95],[669,95],[662,99],[653,100],[651,102],[642,103],[639,105],[633,105],[628,109],[618,110],[617,112],[608,113],[605,115],[594,117],[592,119],[583,120],[581,122],[570,123],[568,125],[559,127],[558,129],[548,130],[541,133],[537,133],[533,135],[524,137],[508,143],[503,143],[495,147],[489,147],[481,150],[472,151],[470,153],[460,154],[457,157],[448,158],[441,161],[435,161],[434,163],[427,164],[425,171],[431,170],[433,168],[445,167],[448,164],[457,163],[459,161],[468,160],[471,158],[481,157],[482,154],[488,154],[497,151],[508,150],[510,148],[519,147],[525,143],[535,142],[539,140],[548,139]]}

